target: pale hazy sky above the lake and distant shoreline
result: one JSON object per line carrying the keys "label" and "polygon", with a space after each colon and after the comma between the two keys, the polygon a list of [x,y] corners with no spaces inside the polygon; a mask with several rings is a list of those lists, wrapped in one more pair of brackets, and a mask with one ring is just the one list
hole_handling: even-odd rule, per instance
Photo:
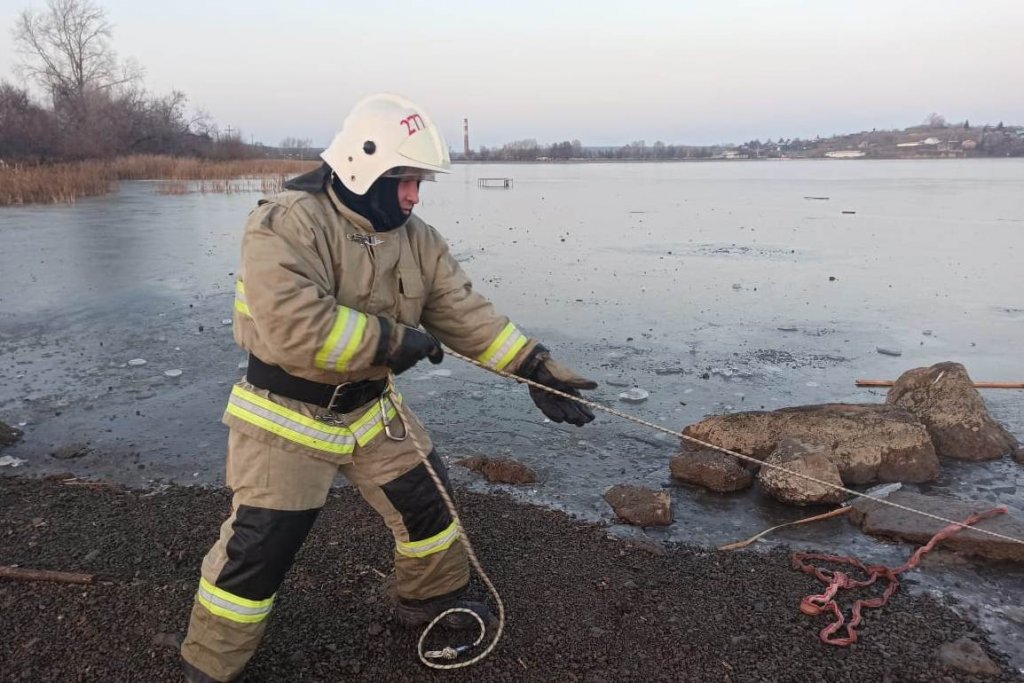
{"label": "pale hazy sky above the lake and distant shoreline", "polygon": [[[464,117],[473,147],[1024,124],[1024,0],[97,2],[151,91],[267,144],[326,144],[382,90],[456,150]],[[0,79],[18,11],[43,5],[0,3]]]}

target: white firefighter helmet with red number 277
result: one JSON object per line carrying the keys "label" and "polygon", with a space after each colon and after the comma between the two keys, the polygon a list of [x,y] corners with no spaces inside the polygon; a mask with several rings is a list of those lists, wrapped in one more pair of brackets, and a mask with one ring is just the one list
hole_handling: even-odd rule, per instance
{"label": "white firefighter helmet with red number 277", "polygon": [[404,176],[401,169],[432,179],[452,167],[444,137],[422,109],[398,95],[370,95],[352,108],[321,158],[345,187],[366,195],[383,175]]}

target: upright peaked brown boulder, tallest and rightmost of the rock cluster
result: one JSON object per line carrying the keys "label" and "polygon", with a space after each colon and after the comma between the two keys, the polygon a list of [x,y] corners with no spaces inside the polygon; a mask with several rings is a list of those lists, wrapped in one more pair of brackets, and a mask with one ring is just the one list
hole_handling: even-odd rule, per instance
{"label": "upright peaked brown boulder, tallest and rightmost of the rock cluster", "polygon": [[903,373],[886,402],[913,413],[928,428],[935,452],[959,460],[995,460],[1017,450],[1017,439],[992,419],[967,369],[939,362]]}

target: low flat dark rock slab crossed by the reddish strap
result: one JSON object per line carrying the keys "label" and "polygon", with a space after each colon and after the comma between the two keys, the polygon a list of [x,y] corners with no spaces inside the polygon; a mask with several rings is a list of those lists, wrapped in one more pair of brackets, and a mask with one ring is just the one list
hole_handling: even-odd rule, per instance
{"label": "low flat dark rock slab crossed by the reddish strap", "polygon": [[[929,512],[944,519],[957,521],[967,519],[975,512],[983,512],[993,507],[991,503],[986,502],[969,503],[905,490],[890,494],[886,500],[913,510]],[[924,545],[946,526],[944,522],[930,517],[866,499],[859,499],[851,507],[853,509],[850,511],[850,520],[859,526],[864,533],[871,536]],[[1024,521],[1010,515],[997,515],[979,522],[977,526],[1012,539],[1024,539]],[[940,547],[964,555],[1024,563],[1024,544],[1004,541],[970,528],[946,539]]]}

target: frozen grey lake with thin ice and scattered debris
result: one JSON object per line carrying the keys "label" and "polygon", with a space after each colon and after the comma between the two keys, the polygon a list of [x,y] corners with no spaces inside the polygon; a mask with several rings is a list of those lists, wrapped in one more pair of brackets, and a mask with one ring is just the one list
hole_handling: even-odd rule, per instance
{"label": "frozen grey lake with thin ice and scattered debris", "polygon": [[[481,176],[514,186],[483,189]],[[460,165],[424,185],[418,213],[478,290],[601,383],[597,400],[682,429],[727,411],[882,402],[854,380],[942,360],[1024,380],[1022,188],[1024,160]],[[222,322],[256,199],[134,182],[74,206],[0,209],[0,419],[26,423],[4,452],[28,461],[19,472],[221,481],[219,419],[243,359]],[[146,365],[126,365],[137,357]],[[630,386],[650,398],[622,403]],[[721,544],[804,515],[754,490],[674,486],[673,438],[610,416],[545,423],[524,389],[456,359],[400,387],[443,454],[515,457],[541,476],[519,498],[586,519],[611,521],[601,494],[613,483],[672,492],[676,522],[656,538]],[[1022,394],[983,392],[1019,439]],[[50,455],[61,446],[78,457]],[[1010,461],[946,463],[929,489],[1024,514],[1024,467]],[[885,561],[910,550],[842,520],[771,542],[785,541]],[[968,597],[962,608],[1020,666],[1024,627],[1000,606],[1019,602],[1022,572],[929,566],[912,579]]]}

